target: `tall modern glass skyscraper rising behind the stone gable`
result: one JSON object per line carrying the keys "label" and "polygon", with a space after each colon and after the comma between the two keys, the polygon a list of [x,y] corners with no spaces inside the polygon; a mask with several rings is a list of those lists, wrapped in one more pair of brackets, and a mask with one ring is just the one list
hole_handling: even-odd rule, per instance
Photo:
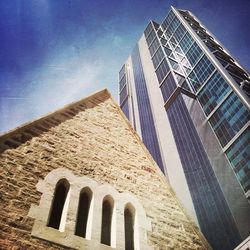
{"label": "tall modern glass skyscraper rising behind the stone gable", "polygon": [[119,72],[119,101],[213,249],[250,232],[250,80],[189,11],[151,21]]}

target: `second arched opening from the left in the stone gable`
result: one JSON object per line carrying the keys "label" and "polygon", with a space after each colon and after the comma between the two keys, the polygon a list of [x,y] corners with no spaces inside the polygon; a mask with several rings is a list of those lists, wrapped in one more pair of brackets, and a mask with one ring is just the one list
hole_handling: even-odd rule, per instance
{"label": "second arched opening from the left in the stone gable", "polygon": [[86,238],[92,191],[84,188],[79,197],[75,235]]}

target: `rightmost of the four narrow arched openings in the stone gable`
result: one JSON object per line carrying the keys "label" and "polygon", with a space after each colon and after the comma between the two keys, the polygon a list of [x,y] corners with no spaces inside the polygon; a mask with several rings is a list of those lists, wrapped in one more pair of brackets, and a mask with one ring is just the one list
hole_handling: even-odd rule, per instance
{"label": "rightmost of the four narrow arched openings in the stone gable", "polygon": [[125,250],[135,249],[135,209],[129,204],[124,210]]}

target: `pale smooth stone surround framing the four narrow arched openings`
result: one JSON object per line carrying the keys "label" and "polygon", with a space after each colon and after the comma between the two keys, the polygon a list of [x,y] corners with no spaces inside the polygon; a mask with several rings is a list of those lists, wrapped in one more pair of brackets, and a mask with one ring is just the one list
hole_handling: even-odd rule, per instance
{"label": "pale smooth stone surround framing the four narrow arched openings", "polygon": [[[70,192],[70,199],[68,199],[67,216],[65,215],[64,217],[64,230],[48,227],[49,210],[53,201],[54,190],[57,183],[60,183],[60,180],[67,180],[70,185],[68,191]],[[33,237],[75,249],[82,249],[83,246],[84,249],[89,250],[93,249],[93,246],[96,249],[104,247],[101,244],[102,206],[103,202],[107,201],[113,204],[110,247],[125,249],[124,208],[127,206],[133,207],[135,211],[137,231],[135,231],[136,240],[134,242],[134,249],[151,249],[147,245],[147,231],[151,230],[151,223],[146,217],[143,206],[134,195],[119,193],[114,187],[108,184],[98,185],[94,180],[85,176],[75,176],[70,170],[64,168],[51,171],[44,180],[38,182],[36,187],[42,195],[39,206],[31,205],[28,214],[35,219],[31,232]],[[77,227],[79,197],[84,191],[88,195],[92,192],[92,196],[85,237],[83,238],[75,235],[75,231]]]}

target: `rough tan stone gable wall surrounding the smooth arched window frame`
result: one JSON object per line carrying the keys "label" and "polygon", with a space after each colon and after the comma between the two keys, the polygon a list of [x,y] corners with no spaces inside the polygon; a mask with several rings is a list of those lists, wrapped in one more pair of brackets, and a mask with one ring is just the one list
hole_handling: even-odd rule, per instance
{"label": "rough tan stone gable wall surrounding the smooth arched window frame", "polygon": [[0,138],[0,248],[63,249],[31,237],[35,185],[53,169],[131,192],[151,219],[154,249],[208,249],[139,137],[104,90]]}

